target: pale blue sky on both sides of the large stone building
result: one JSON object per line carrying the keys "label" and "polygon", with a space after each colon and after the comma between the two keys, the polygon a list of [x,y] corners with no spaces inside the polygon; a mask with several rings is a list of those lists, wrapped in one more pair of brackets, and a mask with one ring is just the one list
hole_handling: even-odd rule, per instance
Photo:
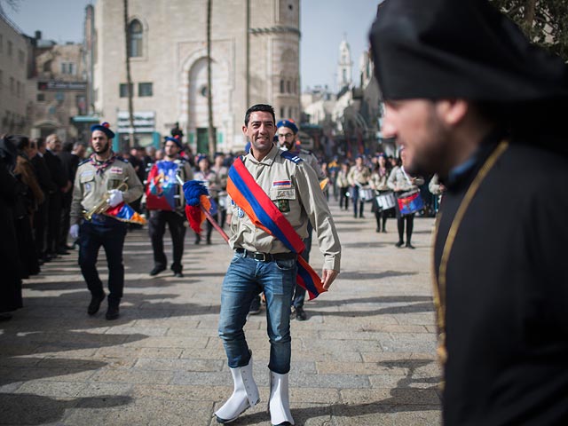
{"label": "pale blue sky on both sides of the large stone building", "polygon": [[[118,1],[118,0],[116,0]],[[14,11],[0,0],[4,12],[28,36],[42,31],[57,43],[83,41],[84,10],[95,0],[19,0]],[[339,43],[350,44],[352,75],[357,82],[359,57],[367,50],[367,33],[379,0],[300,0],[300,75],[302,89],[316,85],[336,91]]]}

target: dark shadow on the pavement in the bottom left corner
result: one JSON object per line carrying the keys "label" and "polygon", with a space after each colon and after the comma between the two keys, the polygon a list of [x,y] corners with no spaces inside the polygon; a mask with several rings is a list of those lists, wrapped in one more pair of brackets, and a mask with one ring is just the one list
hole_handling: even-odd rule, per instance
{"label": "dark shadow on the pavement in the bottom left corner", "polygon": [[44,424],[59,421],[68,408],[125,406],[130,397],[99,396],[61,400],[27,393],[0,393],[3,424]]}

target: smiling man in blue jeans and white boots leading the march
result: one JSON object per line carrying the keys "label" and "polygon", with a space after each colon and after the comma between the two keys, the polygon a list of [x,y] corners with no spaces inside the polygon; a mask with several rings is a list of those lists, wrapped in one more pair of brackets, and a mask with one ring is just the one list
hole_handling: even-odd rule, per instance
{"label": "smiling man in blue jeans and white boots leading the march", "polygon": [[[251,146],[242,160],[259,186],[248,189],[253,195],[256,190],[268,194],[300,238],[307,236],[308,221],[312,222],[324,255],[323,287],[329,288],[339,273],[341,246],[315,171],[273,144],[276,124],[272,106],[259,104],[248,108],[242,131]],[[271,343],[271,421],[294,424],[288,402],[288,372],[290,300],[296,286],[297,256],[274,236],[257,228],[234,202],[230,209],[233,233],[229,244],[235,252],[223,282],[219,335],[225,344],[234,390],[215,413],[217,422],[232,422],[259,400],[243,327],[251,300],[264,291]]]}

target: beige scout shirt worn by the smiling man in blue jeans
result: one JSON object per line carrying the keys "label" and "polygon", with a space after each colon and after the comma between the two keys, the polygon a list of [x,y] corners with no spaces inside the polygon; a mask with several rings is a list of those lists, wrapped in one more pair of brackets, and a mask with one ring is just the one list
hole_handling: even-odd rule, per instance
{"label": "beige scout shirt worn by the smiling man in blue jeans", "polygon": [[[324,269],[339,271],[341,245],[327,201],[314,170],[299,158],[288,159],[283,151],[272,146],[271,151],[258,162],[249,152],[243,157],[248,172],[267,193],[296,233],[304,239],[308,220],[312,222],[324,255]],[[244,248],[252,252],[287,253],[289,249],[277,238],[264,232],[250,221],[233,201],[231,202],[231,248]]]}

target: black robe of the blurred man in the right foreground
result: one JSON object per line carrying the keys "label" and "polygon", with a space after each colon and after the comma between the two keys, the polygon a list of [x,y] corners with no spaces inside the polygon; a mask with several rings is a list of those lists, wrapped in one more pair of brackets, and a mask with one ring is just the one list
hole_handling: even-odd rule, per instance
{"label": "black robe of the blurred man in the right foreground", "polygon": [[[448,183],[455,213],[495,143]],[[446,273],[447,425],[568,424],[568,158],[510,144],[471,201]]]}

